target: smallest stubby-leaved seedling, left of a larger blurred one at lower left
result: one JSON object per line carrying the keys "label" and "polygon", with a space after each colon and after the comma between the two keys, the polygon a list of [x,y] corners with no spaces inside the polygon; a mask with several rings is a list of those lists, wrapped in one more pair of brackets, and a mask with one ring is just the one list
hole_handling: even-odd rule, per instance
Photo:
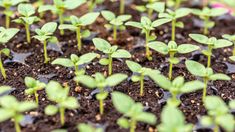
{"label": "smallest stubby-leaved seedling, left of a larger blurred one at lower left", "polygon": [[34,95],[36,103],[39,104],[38,101],[39,94],[37,92],[43,90],[46,87],[46,84],[38,80],[35,80],[32,77],[25,77],[24,83],[27,87],[25,93],[27,95]]}

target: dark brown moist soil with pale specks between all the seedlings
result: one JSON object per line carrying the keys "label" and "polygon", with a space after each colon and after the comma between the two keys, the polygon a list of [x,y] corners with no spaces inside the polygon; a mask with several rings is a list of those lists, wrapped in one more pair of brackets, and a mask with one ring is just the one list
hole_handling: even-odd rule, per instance
{"label": "dark brown moist soil with pale specks between all the seedlings", "polygon": [[[134,4],[141,4],[141,1],[135,0]],[[186,5],[188,7],[193,7],[188,3],[186,3]],[[118,13],[118,3],[110,3],[109,1],[106,1],[103,6],[104,8]],[[141,15],[141,13],[133,10],[132,7],[133,5],[128,5],[126,9],[127,14],[131,14],[134,17],[133,20],[138,21],[140,19],[139,16]],[[73,13],[75,15],[80,16],[84,14],[86,10],[86,5],[83,5],[75,11],[67,12],[67,14]],[[1,25],[4,25],[4,20],[4,16],[1,16]],[[44,16],[44,21],[33,25],[32,30],[37,27],[40,27],[45,22],[52,20],[56,21],[57,18],[50,13],[46,13],[46,15]],[[202,32],[199,26],[200,24],[195,22],[198,20],[199,19],[197,17],[192,15],[181,19],[181,21],[185,23],[185,28],[177,29],[176,40],[178,44],[195,44],[195,42],[189,39],[188,34]],[[215,18],[214,21],[216,22],[216,26],[211,29],[211,36],[221,38],[221,35],[223,34],[234,34],[235,27],[232,25],[235,25],[235,19],[231,16],[221,16],[219,18]],[[158,54],[157,52],[152,52],[153,60],[148,61],[144,57],[145,49],[142,46],[144,44],[144,37],[140,34],[140,30],[128,27],[126,31],[121,31],[118,33],[118,40],[114,42],[112,40],[111,31],[107,31],[103,26],[105,23],[106,21],[102,17],[99,17],[97,19],[97,22],[88,28],[94,33],[97,33],[96,37],[105,38],[109,40],[112,44],[117,44],[120,46],[120,48],[129,50],[132,53],[131,60],[140,63],[144,67],[159,69],[164,75],[167,76],[168,56],[163,56],[161,54]],[[15,90],[11,94],[22,101],[34,99],[33,96],[27,96],[24,94],[24,90],[26,88],[24,85],[24,78],[26,76],[31,76],[37,79],[43,79],[44,81],[56,80],[59,81],[61,84],[68,83],[71,88],[70,95],[77,97],[80,103],[79,109],[66,111],[66,124],[62,127],[60,125],[59,115],[45,115],[44,108],[52,102],[46,99],[45,91],[40,91],[39,108],[34,111],[25,113],[26,115],[30,115],[33,117],[33,123],[29,123],[22,127],[23,132],[49,132],[54,129],[63,128],[67,129],[68,131],[75,132],[77,131],[76,125],[79,123],[91,123],[95,126],[105,128],[105,130],[108,132],[128,131],[126,129],[121,129],[116,124],[117,119],[122,115],[118,113],[113,107],[110,96],[105,100],[105,113],[104,115],[100,116],[99,103],[95,99],[95,96],[91,95],[91,92],[93,90],[84,86],[76,86],[73,81],[73,69],[68,69],[61,66],[53,66],[50,63],[44,64],[42,44],[34,39],[31,44],[27,44],[25,42],[26,38],[24,27],[16,24],[12,24],[12,27],[20,28],[21,31],[11,42],[6,44],[6,47],[10,48],[12,52],[15,53],[31,53],[31,55],[25,58],[25,63],[6,63],[4,66],[6,68],[8,78],[7,80],[4,80],[2,76],[0,76],[0,85],[9,85],[15,88]],[[171,26],[170,24],[163,25],[157,28],[153,33],[158,35],[157,40],[168,42],[171,38]],[[88,52],[97,52],[97,50],[95,50],[94,45],[92,44],[91,38],[83,41],[83,49],[81,52],[78,52],[76,46],[75,33],[66,31],[64,36],[60,36],[59,31],[57,31],[56,36],[59,39],[59,44],[63,53],[54,50],[48,50],[48,54],[51,60],[54,60],[58,57],[69,57],[71,54],[82,55]],[[1,48],[3,47],[4,46],[1,45]],[[232,47],[229,47],[222,50],[215,50],[213,52],[214,55],[212,58],[212,68],[215,72],[228,73],[229,67],[226,65],[226,62],[232,64],[232,62],[229,62],[227,59],[229,56],[231,56],[231,50]],[[184,76],[187,81],[195,80],[196,78],[189,74],[189,72],[187,72],[187,69],[184,65],[184,61],[188,58],[206,64],[207,60],[207,58],[203,56],[200,52],[195,52],[193,54],[187,54],[178,57],[180,57],[182,61],[181,63],[174,66],[173,77],[181,75]],[[3,60],[5,61],[7,60],[7,58],[3,57]],[[232,64],[232,66],[233,65],[234,64]],[[93,63],[87,65],[86,68],[86,72],[89,75],[92,75],[96,72],[101,72],[107,75],[107,67],[99,65],[98,59],[96,59]],[[114,60],[113,73],[125,73],[129,76],[132,75],[131,71],[128,70],[128,67],[125,64],[125,60]],[[231,99],[235,99],[235,74],[233,73],[235,73],[235,71],[232,71],[230,72],[230,74],[228,74],[232,78],[231,81],[211,82],[207,94],[220,96],[226,102]],[[141,102],[145,106],[146,111],[155,114],[158,118],[158,122],[160,122],[160,113],[165,105],[165,100],[163,97],[167,93],[166,91],[159,88],[159,86],[154,84],[153,81],[151,81],[150,79],[145,80],[145,89],[143,97],[139,96],[139,83],[133,83],[128,80],[112,88],[112,90],[126,93],[135,101]],[[189,123],[197,124],[200,116],[206,114],[206,110],[202,104],[201,97],[202,91],[181,95],[180,97],[182,101],[180,109],[184,113],[185,118]],[[136,130],[139,132],[152,132],[155,130],[155,126],[146,125],[144,123],[138,123]],[[11,121],[0,123],[0,131],[12,132],[14,131],[14,124]],[[197,131],[209,131],[209,129],[198,129]]]}

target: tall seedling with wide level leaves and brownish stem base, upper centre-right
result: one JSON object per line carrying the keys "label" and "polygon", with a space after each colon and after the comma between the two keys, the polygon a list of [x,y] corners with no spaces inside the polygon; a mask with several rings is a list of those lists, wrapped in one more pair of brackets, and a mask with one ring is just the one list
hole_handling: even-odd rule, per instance
{"label": "tall seedling with wide level leaves and brownish stem base, upper centre-right", "polygon": [[140,22],[134,22],[134,21],[129,21],[127,22],[125,25],[127,26],[132,26],[132,27],[136,27],[136,28],[139,28],[141,29],[142,33],[145,34],[145,48],[146,48],[146,57],[148,60],[152,60],[152,57],[151,57],[151,52],[149,50],[149,42],[150,41],[153,41],[156,39],[156,36],[155,35],[151,35],[151,31],[154,30],[154,28],[164,24],[164,23],[167,23],[169,21],[165,21],[165,19],[159,19],[159,20],[156,20],[156,21],[151,21],[148,17],[141,17],[141,20]]}

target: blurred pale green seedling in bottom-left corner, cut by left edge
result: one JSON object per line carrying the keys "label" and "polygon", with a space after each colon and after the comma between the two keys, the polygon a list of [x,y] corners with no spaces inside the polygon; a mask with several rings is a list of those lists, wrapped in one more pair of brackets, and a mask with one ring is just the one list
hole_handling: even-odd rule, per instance
{"label": "blurred pale green seedling in bottom-left corner, cut by left edge", "polygon": [[13,119],[16,132],[21,132],[20,122],[24,119],[22,113],[37,108],[34,102],[19,102],[14,96],[0,98],[0,122]]}

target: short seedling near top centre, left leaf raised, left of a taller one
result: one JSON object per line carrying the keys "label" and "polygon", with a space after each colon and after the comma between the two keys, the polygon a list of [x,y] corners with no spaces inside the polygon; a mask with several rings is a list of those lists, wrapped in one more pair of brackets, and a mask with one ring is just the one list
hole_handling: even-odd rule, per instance
{"label": "short seedling near top centre, left leaf raised, left of a taller one", "polygon": [[116,16],[111,11],[102,11],[102,16],[109,22],[105,24],[108,29],[113,29],[113,40],[117,40],[117,30],[125,30],[124,22],[131,19],[131,15],[120,15]]}

